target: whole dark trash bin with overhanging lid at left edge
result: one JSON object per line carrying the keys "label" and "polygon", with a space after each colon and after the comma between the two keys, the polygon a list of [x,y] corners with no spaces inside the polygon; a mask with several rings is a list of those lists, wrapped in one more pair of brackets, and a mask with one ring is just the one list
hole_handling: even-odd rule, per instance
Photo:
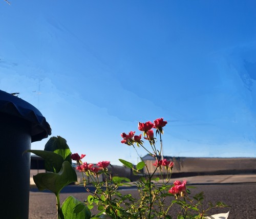
{"label": "whole dark trash bin with overhanging lid at left edge", "polygon": [[49,135],[51,127],[38,109],[0,90],[1,218],[28,218],[30,153],[24,151]]}

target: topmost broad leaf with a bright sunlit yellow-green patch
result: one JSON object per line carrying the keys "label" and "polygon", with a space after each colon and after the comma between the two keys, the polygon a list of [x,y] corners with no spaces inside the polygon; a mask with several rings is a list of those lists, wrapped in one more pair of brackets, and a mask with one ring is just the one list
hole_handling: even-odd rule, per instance
{"label": "topmost broad leaf with a bright sunlit yellow-green patch", "polygon": [[51,137],[45,145],[45,150],[53,151],[54,153],[60,155],[63,160],[71,163],[71,151],[66,139],[61,138],[60,136]]}

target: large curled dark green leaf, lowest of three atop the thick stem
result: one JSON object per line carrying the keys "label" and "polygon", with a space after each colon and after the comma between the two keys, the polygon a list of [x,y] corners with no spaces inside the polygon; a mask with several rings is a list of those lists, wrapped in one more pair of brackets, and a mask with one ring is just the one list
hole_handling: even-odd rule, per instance
{"label": "large curled dark green leaf, lowest of three atop the thick stem", "polygon": [[33,177],[33,179],[40,191],[49,189],[55,195],[57,195],[63,187],[69,185],[72,182],[76,182],[77,175],[71,164],[68,161],[64,161],[58,173],[38,173]]}

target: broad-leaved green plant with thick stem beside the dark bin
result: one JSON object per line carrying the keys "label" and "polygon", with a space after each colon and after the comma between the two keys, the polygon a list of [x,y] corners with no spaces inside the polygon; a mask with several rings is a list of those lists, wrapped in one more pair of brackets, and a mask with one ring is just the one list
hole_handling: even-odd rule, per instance
{"label": "broad-leaved green plant with thick stem beside the dark bin", "polygon": [[[74,217],[74,215],[71,215],[69,208],[67,207],[68,204],[63,205],[62,211],[60,210],[59,193],[61,189],[70,183],[77,181],[76,172],[71,165],[71,151],[67,145],[67,141],[60,136],[52,137],[46,143],[45,150],[27,150],[26,152],[32,152],[35,155],[45,159],[45,168],[48,172],[38,173],[33,176],[33,179],[40,191],[48,189],[56,195],[58,218],[78,218]],[[71,206],[74,205],[76,214],[80,214],[80,212],[86,211],[87,215],[89,215],[88,212],[90,212],[90,210],[88,207],[84,207],[84,210],[81,209],[81,205],[76,207],[80,203],[77,203],[74,200],[72,202],[72,200],[69,199],[67,202],[73,203]],[[74,214],[74,209],[72,209],[72,214]],[[90,217],[91,212],[90,216],[86,218]]]}

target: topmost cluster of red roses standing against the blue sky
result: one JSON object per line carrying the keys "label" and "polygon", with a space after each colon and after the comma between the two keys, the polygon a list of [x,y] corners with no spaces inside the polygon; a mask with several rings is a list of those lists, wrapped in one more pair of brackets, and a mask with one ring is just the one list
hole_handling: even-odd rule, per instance
{"label": "topmost cluster of red roses standing against the blue sky", "polygon": [[[154,123],[147,121],[145,123],[139,122],[138,129],[143,132],[144,139],[148,140],[151,144],[155,144],[154,131],[152,128],[156,128],[156,133],[163,134],[163,127],[167,124],[167,121],[163,121],[163,118],[154,120]],[[143,141],[141,140],[142,135],[135,136],[135,132],[131,131],[129,134],[122,133],[121,137],[123,140],[121,143],[127,145],[133,145],[137,143],[139,146],[142,145]]]}

